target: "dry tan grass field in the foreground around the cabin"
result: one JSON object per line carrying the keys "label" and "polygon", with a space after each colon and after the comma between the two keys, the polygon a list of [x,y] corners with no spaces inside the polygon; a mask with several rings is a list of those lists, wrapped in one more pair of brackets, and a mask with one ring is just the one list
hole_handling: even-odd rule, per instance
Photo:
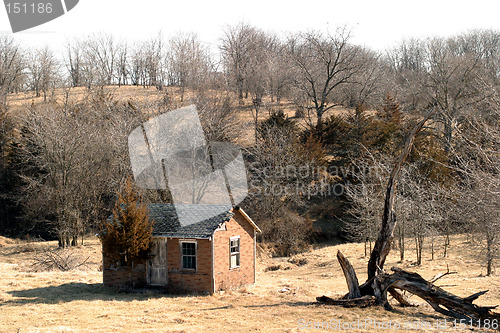
{"label": "dry tan grass field in the foreground around the cabin", "polygon": [[[396,306],[393,312],[378,307],[345,309],[315,304],[316,296],[341,296],[347,290],[335,259],[337,250],[351,260],[364,281],[367,258],[363,257],[363,244],[316,247],[288,260],[262,254],[255,286],[214,295],[127,293],[105,288],[96,239],[71,250],[80,261],[88,258],[85,266],[66,272],[34,269],[36,258],[48,248],[55,249],[56,244],[0,238],[0,332],[317,332],[321,330],[303,329],[305,323],[340,321],[345,325],[358,320],[376,324],[355,326],[350,331],[457,331],[450,322],[447,329],[436,328],[445,318],[416,297],[410,300],[418,307]],[[441,252],[437,257],[431,261],[426,250],[422,266],[414,267],[411,250],[409,261],[402,263],[397,263],[393,252],[386,267],[398,265],[430,279],[449,266],[458,273],[445,276],[438,285],[460,296],[489,289],[477,302],[500,304],[500,276],[482,275],[484,269],[465,237],[453,238],[448,258],[442,258]],[[384,329],[383,325],[389,324],[393,329]],[[396,329],[396,325],[409,328]]]}

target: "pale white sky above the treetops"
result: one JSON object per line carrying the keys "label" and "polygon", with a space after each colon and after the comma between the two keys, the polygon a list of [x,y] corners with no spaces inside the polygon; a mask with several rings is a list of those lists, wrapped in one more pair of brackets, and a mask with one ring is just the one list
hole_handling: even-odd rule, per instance
{"label": "pale white sky above the treetops", "polygon": [[[23,46],[62,51],[66,39],[107,32],[127,40],[159,31],[195,32],[216,44],[225,26],[246,22],[266,31],[352,29],[352,42],[383,51],[404,37],[449,36],[478,28],[500,30],[500,0],[80,0],[66,15],[14,34]],[[0,8],[0,32],[10,33]]]}

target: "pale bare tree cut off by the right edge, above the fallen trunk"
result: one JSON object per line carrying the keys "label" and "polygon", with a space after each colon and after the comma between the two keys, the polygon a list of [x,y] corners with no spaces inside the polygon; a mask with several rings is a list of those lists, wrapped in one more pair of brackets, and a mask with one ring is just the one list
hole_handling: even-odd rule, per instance
{"label": "pale bare tree cut off by the right edge, above the fallen trunk", "polygon": [[500,99],[483,104],[483,112],[467,115],[456,134],[460,146],[454,156],[462,179],[460,213],[467,219],[486,262],[494,273],[500,249]]}

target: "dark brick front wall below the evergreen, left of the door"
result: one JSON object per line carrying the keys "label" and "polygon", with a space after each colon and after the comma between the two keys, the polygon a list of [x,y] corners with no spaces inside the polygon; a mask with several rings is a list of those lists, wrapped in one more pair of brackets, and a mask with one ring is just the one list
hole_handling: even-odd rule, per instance
{"label": "dark brick front wall below the evergreen, left of the door", "polygon": [[109,256],[103,253],[102,256],[102,280],[108,287],[143,287],[146,285],[146,260],[134,265],[129,272],[126,267],[120,267]]}

